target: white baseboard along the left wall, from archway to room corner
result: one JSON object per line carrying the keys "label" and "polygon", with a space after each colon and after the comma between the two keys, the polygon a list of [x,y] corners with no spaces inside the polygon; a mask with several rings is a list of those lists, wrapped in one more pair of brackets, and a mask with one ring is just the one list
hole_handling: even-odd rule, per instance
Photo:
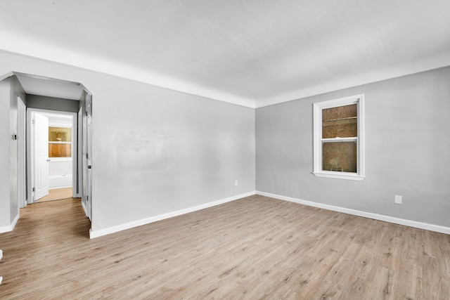
{"label": "white baseboard along the left wall, from archway to room corner", "polygon": [[134,228],[134,227],[146,225],[148,223],[153,223],[153,222],[156,222],[156,221],[169,219],[169,218],[172,218],[174,216],[180,216],[182,214],[188,214],[188,213],[193,212],[193,211],[198,211],[200,209],[206,209],[208,207],[214,207],[214,206],[219,205],[219,204],[224,204],[226,202],[231,202],[231,201],[238,200],[238,199],[241,199],[241,198],[244,198],[244,197],[248,197],[248,196],[252,196],[252,195],[255,195],[255,191],[252,191],[252,192],[249,192],[249,193],[245,193],[245,194],[236,195],[236,196],[233,196],[233,197],[228,197],[228,198],[217,200],[217,201],[214,201],[214,202],[208,202],[208,203],[205,203],[205,204],[200,204],[200,205],[197,205],[195,207],[188,207],[186,209],[180,209],[180,210],[177,210],[177,211],[172,211],[172,212],[169,212],[167,214],[160,214],[158,216],[151,216],[150,218],[141,219],[141,220],[137,220],[137,221],[132,221],[132,222],[129,222],[129,223],[124,223],[124,224],[121,224],[121,225],[112,226],[112,227],[104,228],[104,229],[101,229],[101,230],[92,230],[91,229],[89,231],[89,237],[92,239],[92,238],[95,238],[95,237],[101,237],[103,235],[109,235],[110,233],[117,233],[119,231],[126,230],[126,229],[129,229],[129,228]]}

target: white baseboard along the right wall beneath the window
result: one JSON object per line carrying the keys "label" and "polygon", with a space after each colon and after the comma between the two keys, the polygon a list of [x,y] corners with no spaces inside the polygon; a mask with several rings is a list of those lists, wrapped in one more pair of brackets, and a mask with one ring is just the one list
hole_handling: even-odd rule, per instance
{"label": "white baseboard along the right wall beneath the window", "polygon": [[378,221],[385,221],[385,222],[390,222],[390,223],[394,223],[394,224],[435,231],[437,233],[446,233],[447,235],[450,235],[449,227],[444,227],[444,226],[439,226],[439,225],[434,225],[434,224],[429,224],[429,223],[422,223],[422,222],[418,222],[418,221],[411,221],[411,220],[406,220],[406,219],[400,219],[400,218],[396,218],[394,216],[386,216],[384,214],[374,214],[371,212],[359,211],[356,209],[347,209],[345,207],[335,207],[333,205],[311,202],[311,201],[307,201],[307,200],[300,200],[300,199],[296,199],[293,197],[286,197],[286,196],[281,196],[281,195],[276,195],[276,194],[271,194],[271,193],[256,191],[256,194],[275,198],[278,200],[285,200],[285,201],[289,201],[289,202],[304,204],[304,205],[308,205],[310,207],[319,207],[321,209],[328,209],[331,211],[339,211],[339,212],[343,212],[345,214],[352,214],[354,216],[364,216],[365,218],[375,219]]}

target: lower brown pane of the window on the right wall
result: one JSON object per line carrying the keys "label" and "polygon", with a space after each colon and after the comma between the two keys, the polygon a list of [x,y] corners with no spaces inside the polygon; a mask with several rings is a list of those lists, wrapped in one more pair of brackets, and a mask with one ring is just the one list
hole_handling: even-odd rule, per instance
{"label": "lower brown pane of the window on the right wall", "polygon": [[322,170],[356,173],[356,143],[323,143]]}

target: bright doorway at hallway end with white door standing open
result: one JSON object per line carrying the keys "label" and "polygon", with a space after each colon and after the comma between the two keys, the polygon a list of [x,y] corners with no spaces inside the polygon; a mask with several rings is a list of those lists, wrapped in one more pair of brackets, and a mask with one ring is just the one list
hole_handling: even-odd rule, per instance
{"label": "bright doorway at hallway end with white door standing open", "polygon": [[34,189],[30,202],[79,197],[76,189],[77,114],[33,108],[27,111],[30,124],[28,161]]}

